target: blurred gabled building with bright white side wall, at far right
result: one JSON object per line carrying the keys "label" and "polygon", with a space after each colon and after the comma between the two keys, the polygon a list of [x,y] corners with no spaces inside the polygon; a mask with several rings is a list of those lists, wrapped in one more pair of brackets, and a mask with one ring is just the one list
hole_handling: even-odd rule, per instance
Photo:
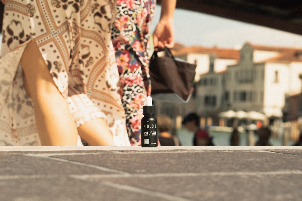
{"label": "blurred gabled building with bright white side wall, at far right", "polygon": [[246,43],[238,64],[225,76],[223,110],[257,111],[282,118],[285,97],[301,92],[301,49],[254,46]]}

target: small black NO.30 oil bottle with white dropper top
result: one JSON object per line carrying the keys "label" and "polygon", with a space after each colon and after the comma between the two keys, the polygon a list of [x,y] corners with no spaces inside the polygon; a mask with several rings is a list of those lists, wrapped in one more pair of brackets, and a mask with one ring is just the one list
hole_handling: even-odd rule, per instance
{"label": "small black NO.30 oil bottle with white dropper top", "polygon": [[141,121],[141,146],[157,147],[157,119],[155,118],[155,106],[152,105],[151,96],[147,97],[147,104],[144,105],[144,117]]}

